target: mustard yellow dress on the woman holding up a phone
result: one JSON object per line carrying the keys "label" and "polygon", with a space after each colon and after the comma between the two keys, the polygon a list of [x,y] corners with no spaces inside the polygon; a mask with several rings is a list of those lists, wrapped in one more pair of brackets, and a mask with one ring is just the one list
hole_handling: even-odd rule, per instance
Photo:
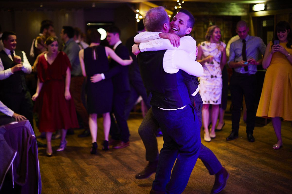
{"label": "mustard yellow dress on the woman holding up a phone", "polygon": [[[280,42],[292,54],[292,49],[288,49],[286,44],[287,42]],[[256,116],[281,117],[292,121],[292,64],[280,52],[273,54],[267,68]]]}

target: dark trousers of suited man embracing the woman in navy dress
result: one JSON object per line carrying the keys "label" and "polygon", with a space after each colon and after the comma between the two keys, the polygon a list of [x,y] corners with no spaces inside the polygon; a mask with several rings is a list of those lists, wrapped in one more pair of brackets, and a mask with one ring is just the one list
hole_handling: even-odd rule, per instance
{"label": "dark trousers of suited man embracing the woman in navy dress", "polygon": [[123,142],[129,141],[129,128],[128,123],[125,118],[125,103],[129,95],[129,91],[114,93],[113,96],[113,113],[117,120],[117,125],[114,122],[111,114],[111,128],[109,134],[112,136],[112,139],[122,140]]}

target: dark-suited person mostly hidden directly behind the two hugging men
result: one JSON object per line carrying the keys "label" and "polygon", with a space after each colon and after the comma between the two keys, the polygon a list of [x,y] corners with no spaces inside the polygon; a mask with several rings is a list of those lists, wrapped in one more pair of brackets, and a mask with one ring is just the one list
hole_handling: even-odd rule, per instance
{"label": "dark-suited person mostly hidden directly behind the two hugging men", "polygon": [[[135,35],[144,31],[146,30],[143,24],[143,19],[141,19],[140,22],[138,22],[138,32]],[[128,48],[128,51],[133,58],[133,63],[131,63],[131,65],[129,66],[130,94],[128,96],[128,99],[126,100],[126,119],[128,119],[130,111],[135,105],[135,102],[137,101],[139,96],[142,97],[148,110],[151,107],[151,105],[147,102],[147,93],[141,78],[139,65],[137,63],[137,57],[132,53],[132,46],[136,44],[134,42],[134,37],[135,36],[131,36],[126,42],[126,47]]]}

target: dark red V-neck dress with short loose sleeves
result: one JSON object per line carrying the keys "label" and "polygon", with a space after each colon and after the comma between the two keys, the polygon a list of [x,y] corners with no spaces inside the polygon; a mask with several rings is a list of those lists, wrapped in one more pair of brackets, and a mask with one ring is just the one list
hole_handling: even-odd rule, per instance
{"label": "dark red V-neck dress with short loose sleeves", "polygon": [[71,69],[67,55],[59,52],[51,65],[42,55],[36,67],[38,78],[43,82],[34,106],[34,112],[39,114],[39,131],[78,128],[73,99],[65,99],[66,70]]}

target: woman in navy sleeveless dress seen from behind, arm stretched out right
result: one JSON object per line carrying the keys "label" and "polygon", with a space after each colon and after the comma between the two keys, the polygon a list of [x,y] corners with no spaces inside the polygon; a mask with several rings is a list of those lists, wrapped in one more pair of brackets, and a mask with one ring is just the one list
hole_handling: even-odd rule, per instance
{"label": "woman in navy sleeveless dress seen from behind, arm stretched out right", "polygon": [[96,153],[98,147],[96,143],[97,137],[97,114],[103,115],[103,131],[105,140],[102,144],[103,150],[109,149],[108,137],[110,129],[110,115],[112,110],[113,85],[112,79],[102,79],[99,82],[91,80],[91,76],[104,73],[109,70],[109,62],[107,57],[117,61],[121,65],[130,65],[133,60],[122,60],[109,47],[100,46],[100,33],[97,29],[88,29],[86,38],[90,44],[86,49],[79,51],[80,65],[83,76],[87,76],[87,106],[89,113],[89,129],[92,137],[91,154]]}

